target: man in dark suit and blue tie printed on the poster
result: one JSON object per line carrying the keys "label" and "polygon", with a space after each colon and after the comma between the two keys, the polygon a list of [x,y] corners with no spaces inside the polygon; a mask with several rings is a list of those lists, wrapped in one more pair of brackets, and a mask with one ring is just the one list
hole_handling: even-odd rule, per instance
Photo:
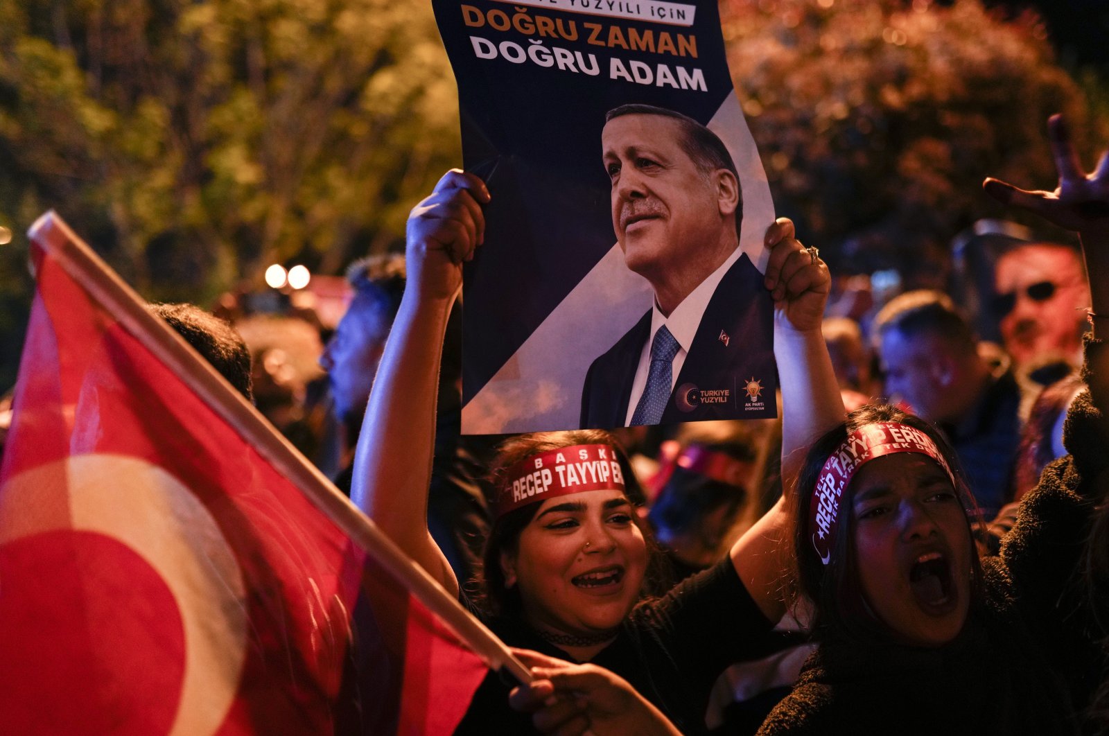
{"label": "man in dark suit and blue tie printed on the poster", "polygon": [[[773,305],[739,247],[735,164],[704,125],[650,105],[609,111],[601,144],[617,241],[654,300],[590,366],[581,426],[736,418],[742,384],[773,376]],[[714,389],[730,400],[701,402]]]}

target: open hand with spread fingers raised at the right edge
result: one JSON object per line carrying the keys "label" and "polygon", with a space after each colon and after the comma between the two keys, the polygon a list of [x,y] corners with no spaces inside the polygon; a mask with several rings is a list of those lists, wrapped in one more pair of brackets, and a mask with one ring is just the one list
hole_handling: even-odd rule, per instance
{"label": "open hand with spread fingers raised at the right edge", "polygon": [[987,178],[983,188],[995,200],[1034,212],[1050,223],[1089,237],[1109,237],[1109,151],[1091,174],[1087,174],[1070,143],[1062,115],[1048,120],[1051,154],[1059,172],[1054,192],[1028,191]]}

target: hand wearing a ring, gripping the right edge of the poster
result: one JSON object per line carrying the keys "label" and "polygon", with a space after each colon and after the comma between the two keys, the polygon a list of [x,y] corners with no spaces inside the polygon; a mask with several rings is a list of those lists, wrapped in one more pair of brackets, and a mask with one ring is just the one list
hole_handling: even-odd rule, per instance
{"label": "hand wearing a ring, gripping the right edge of the poster", "polygon": [[793,222],[779,217],[766,228],[771,248],[765,284],[774,298],[774,311],[798,333],[820,330],[824,305],[832,289],[827,266],[794,237]]}

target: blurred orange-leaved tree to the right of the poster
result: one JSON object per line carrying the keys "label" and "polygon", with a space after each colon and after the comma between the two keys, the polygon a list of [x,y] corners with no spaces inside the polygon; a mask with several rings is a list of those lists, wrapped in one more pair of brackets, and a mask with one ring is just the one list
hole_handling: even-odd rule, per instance
{"label": "blurred orange-leaved tree to the right of the poster", "polygon": [[1047,186],[1046,121],[1106,140],[1041,22],[977,0],[724,0],[736,91],[779,212],[838,273],[943,286],[953,235],[1019,217],[985,176]]}

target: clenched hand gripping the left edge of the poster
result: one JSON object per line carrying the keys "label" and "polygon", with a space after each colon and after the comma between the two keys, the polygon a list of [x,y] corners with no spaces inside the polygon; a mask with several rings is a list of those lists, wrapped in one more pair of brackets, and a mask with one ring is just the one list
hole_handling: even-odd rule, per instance
{"label": "clenched hand gripping the left edge of the poster", "polygon": [[452,299],[462,284],[462,263],[485,239],[481,205],[489,190],[474,174],[451,168],[408,215],[408,287],[423,299]]}

